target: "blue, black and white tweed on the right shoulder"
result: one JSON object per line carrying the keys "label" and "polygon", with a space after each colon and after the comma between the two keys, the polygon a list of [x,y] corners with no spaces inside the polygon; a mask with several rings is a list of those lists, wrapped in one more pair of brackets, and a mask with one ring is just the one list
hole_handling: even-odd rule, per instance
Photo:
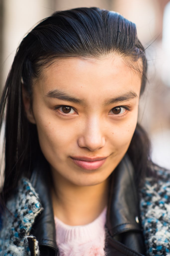
{"label": "blue, black and white tweed on the right shoulder", "polygon": [[141,219],[147,255],[170,256],[170,172],[157,170],[141,190]]}

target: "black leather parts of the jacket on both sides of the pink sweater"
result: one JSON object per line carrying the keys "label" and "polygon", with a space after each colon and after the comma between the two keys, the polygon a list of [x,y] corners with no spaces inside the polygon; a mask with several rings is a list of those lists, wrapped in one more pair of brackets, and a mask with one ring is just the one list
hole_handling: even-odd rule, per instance
{"label": "black leather parts of the jacket on both sides of the pink sweater", "polygon": [[[46,179],[36,170],[33,172],[31,182],[40,196],[44,210],[36,218],[30,233],[39,242],[41,256],[58,256],[53,208]],[[140,220],[138,202],[134,169],[125,156],[111,175],[106,220],[107,256],[145,254],[141,225],[138,221]]]}

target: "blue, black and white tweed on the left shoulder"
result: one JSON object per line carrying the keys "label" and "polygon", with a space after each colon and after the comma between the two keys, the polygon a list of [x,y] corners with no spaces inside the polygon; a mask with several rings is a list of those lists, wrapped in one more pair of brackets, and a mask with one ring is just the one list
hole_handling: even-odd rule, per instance
{"label": "blue, black and white tweed on the left shoulder", "polygon": [[21,179],[17,193],[6,206],[2,217],[0,256],[30,256],[29,239],[33,241],[35,256],[39,256],[38,241],[29,235],[29,231],[42,206],[28,179]]}

